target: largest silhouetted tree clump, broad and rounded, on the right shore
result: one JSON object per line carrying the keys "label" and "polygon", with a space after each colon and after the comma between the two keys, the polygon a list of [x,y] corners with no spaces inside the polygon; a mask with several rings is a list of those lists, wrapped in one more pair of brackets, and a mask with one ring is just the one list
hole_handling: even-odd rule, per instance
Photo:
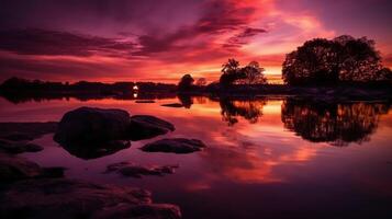
{"label": "largest silhouetted tree clump, broad and rounded, on the right shore", "polygon": [[381,57],[374,42],[343,35],[332,41],[307,41],[288,54],[283,81],[292,85],[381,81]]}

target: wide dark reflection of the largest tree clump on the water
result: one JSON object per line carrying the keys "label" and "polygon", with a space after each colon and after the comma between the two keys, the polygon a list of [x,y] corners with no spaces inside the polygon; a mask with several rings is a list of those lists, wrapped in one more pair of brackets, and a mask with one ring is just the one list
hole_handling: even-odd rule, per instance
{"label": "wide dark reflection of the largest tree clump on the water", "polygon": [[368,141],[377,129],[381,114],[387,114],[388,103],[320,103],[288,99],[282,104],[284,127],[313,142]]}

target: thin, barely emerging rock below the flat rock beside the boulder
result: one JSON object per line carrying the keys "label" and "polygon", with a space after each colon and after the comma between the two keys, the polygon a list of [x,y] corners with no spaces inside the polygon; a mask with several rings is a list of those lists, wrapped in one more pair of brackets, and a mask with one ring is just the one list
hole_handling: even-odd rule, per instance
{"label": "thin, barely emerging rock below the flat rock beside the boulder", "polygon": [[175,173],[178,165],[145,166],[135,163],[120,162],[108,165],[105,173],[117,172],[124,176],[142,177],[142,175],[166,175]]}

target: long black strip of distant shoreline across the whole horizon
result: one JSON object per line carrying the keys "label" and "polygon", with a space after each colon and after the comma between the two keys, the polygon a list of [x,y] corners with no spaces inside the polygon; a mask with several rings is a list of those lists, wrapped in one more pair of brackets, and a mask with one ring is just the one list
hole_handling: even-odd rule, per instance
{"label": "long black strip of distant shoreline across the whole horizon", "polygon": [[[135,85],[137,87],[135,90]],[[257,97],[257,96],[302,96],[320,100],[392,100],[390,84],[346,84],[336,87],[292,87],[287,84],[234,84],[222,88],[217,83],[198,87],[192,85],[186,91],[179,91],[175,84],[153,82],[78,82],[65,84],[58,82],[37,82],[23,79],[0,85],[0,95],[12,102],[29,99],[61,99],[76,97],[79,100],[114,97],[132,99],[164,99],[176,95],[204,95],[213,97]]]}

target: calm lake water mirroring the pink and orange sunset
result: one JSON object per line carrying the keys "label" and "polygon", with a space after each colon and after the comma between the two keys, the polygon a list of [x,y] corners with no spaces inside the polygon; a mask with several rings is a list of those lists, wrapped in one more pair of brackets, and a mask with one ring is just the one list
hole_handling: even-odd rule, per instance
{"label": "calm lake water mirroring the pink and orange sunset", "polygon": [[[52,140],[22,153],[44,166],[66,166],[66,177],[128,185],[153,192],[155,203],[180,206],[183,218],[392,218],[392,105],[325,103],[293,97],[212,100],[41,100],[0,97],[0,122],[57,122],[79,106],[122,108],[164,118],[176,130],[132,141],[97,159],[70,154]],[[186,107],[161,104],[182,102]],[[138,148],[168,137],[202,140],[190,154],[148,153]],[[178,164],[165,176],[103,173],[108,164]]]}

